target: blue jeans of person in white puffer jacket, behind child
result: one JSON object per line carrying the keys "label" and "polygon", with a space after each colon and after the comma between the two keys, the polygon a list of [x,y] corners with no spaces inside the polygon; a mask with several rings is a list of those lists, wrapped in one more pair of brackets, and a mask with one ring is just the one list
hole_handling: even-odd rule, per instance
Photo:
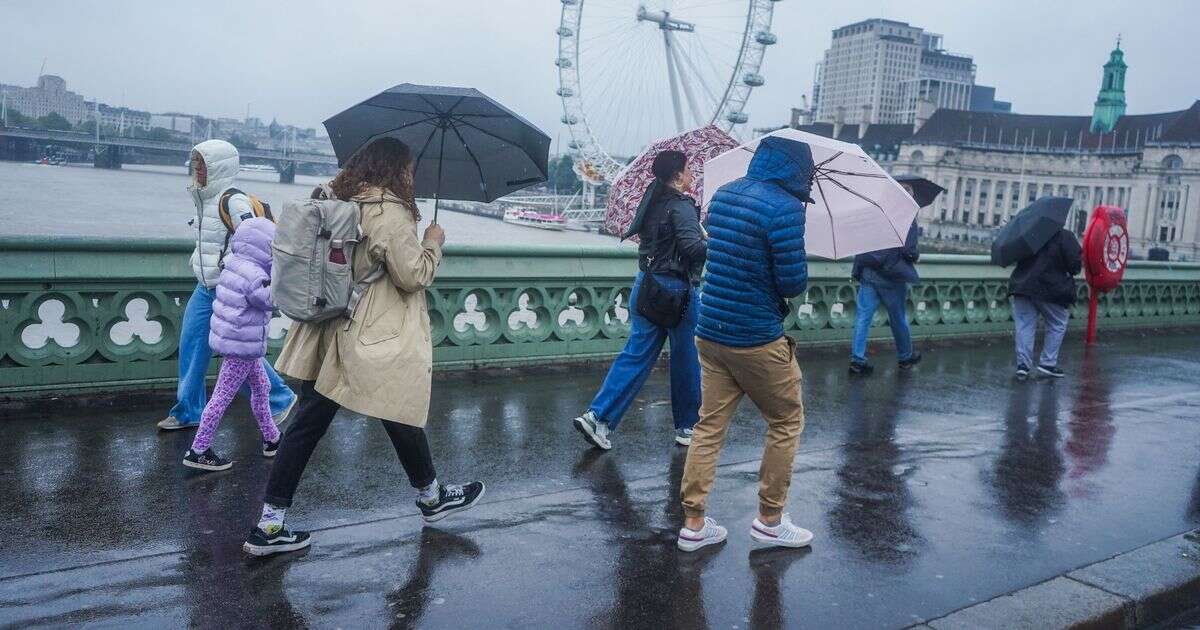
{"label": "blue jeans of person in white puffer jacket, behind child", "polygon": [[[179,331],[179,389],[175,390],[175,407],[172,407],[170,415],[185,425],[198,424],[204,404],[208,403],[208,384],[204,379],[209,373],[209,361],[212,360],[209,320],[212,318],[215,299],[216,290],[197,284],[184,310],[184,324]],[[263,362],[271,383],[271,414],[277,414],[292,404],[295,394],[275,373],[270,361],[264,358]],[[250,396],[250,386],[244,384],[240,394]]]}

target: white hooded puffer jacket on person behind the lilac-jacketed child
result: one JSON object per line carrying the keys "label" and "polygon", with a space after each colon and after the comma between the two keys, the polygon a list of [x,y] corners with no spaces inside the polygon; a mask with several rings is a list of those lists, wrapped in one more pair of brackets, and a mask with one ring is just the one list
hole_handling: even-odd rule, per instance
{"label": "white hooded puffer jacket on person behind the lilac-jacketed child", "polygon": [[[221,194],[233,187],[241,164],[238,160],[238,149],[224,140],[205,140],[192,150],[200,154],[209,169],[204,187],[197,185],[194,173],[192,184],[187,187],[196,204],[196,250],[192,252],[192,272],[196,274],[197,281],[211,289],[217,286],[217,280],[221,277],[218,264],[228,232],[221,221],[217,204]],[[244,218],[253,216],[253,208],[245,194],[234,194],[229,198],[229,217],[234,228]]]}

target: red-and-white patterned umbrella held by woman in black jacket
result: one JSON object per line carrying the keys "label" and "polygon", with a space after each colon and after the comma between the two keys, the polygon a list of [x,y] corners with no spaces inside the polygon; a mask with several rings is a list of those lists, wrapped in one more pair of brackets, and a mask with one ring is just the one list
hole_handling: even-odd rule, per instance
{"label": "red-and-white patterned umbrella held by woman in black jacket", "polygon": [[[624,234],[637,214],[646,187],[654,181],[650,164],[654,156],[661,151],[683,151],[688,156],[688,168],[695,175],[688,194],[698,204],[704,198],[704,162],[737,146],[730,134],[708,125],[691,130],[672,138],[658,140],[636,160],[629,163],[608,188],[608,204],[605,209],[604,224],[610,234]],[[703,220],[703,217],[701,217]],[[635,236],[636,239],[636,236]]]}

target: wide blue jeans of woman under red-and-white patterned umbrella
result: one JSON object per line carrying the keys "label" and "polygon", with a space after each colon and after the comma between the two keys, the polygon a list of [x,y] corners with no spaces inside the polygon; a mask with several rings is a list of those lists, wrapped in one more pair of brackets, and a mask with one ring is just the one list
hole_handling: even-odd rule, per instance
{"label": "wide blue jeans of woman under red-and-white patterned umbrella", "polygon": [[[684,281],[674,277],[654,277],[671,290],[684,290],[688,287]],[[692,289],[683,319],[674,328],[665,329],[637,314],[637,293],[641,287],[642,274],[637,274],[634,290],[629,295],[632,330],[625,349],[608,368],[604,385],[592,401],[592,413],[598,420],[606,422],[608,428],[617,428],[642,390],[646,378],[650,376],[650,370],[662,352],[662,343],[671,337],[671,414],[674,416],[676,428],[691,428],[700,419],[700,356],[696,354],[698,289]]]}

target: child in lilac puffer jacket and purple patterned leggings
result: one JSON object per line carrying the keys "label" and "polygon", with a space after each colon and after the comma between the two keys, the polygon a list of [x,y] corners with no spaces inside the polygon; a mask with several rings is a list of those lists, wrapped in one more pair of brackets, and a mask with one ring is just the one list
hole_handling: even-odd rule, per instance
{"label": "child in lilac puffer jacket and purple patterned leggings", "polygon": [[192,448],[184,466],[200,470],[224,470],[233,462],[212,451],[212,436],[242,383],[250,380],[250,406],[263,431],[263,455],[275,456],[280,430],[271,420],[270,389],[263,356],[266,355],[266,328],[271,322],[271,241],[275,223],[268,218],[242,221],[229,239],[212,320],[209,346],[220,354],[221,373],[209,398]]}

